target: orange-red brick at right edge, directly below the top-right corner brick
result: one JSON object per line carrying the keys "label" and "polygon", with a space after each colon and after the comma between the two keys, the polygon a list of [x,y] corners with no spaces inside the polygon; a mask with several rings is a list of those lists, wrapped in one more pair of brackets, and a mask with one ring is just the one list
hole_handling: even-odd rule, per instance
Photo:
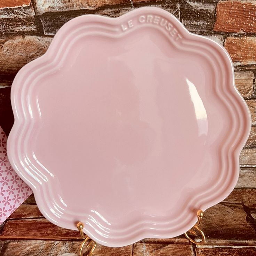
{"label": "orange-red brick at right edge, directly below the top-right corner brick", "polygon": [[256,64],[255,37],[228,37],[225,48],[235,65]]}

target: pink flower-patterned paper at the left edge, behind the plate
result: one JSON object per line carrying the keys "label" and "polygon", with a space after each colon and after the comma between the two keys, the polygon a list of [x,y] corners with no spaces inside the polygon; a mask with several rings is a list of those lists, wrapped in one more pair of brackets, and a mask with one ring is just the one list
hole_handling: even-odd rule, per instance
{"label": "pink flower-patterned paper at the left edge, behind the plate", "polygon": [[0,127],[0,224],[32,194],[30,187],[11,167],[6,142],[7,136]]}

